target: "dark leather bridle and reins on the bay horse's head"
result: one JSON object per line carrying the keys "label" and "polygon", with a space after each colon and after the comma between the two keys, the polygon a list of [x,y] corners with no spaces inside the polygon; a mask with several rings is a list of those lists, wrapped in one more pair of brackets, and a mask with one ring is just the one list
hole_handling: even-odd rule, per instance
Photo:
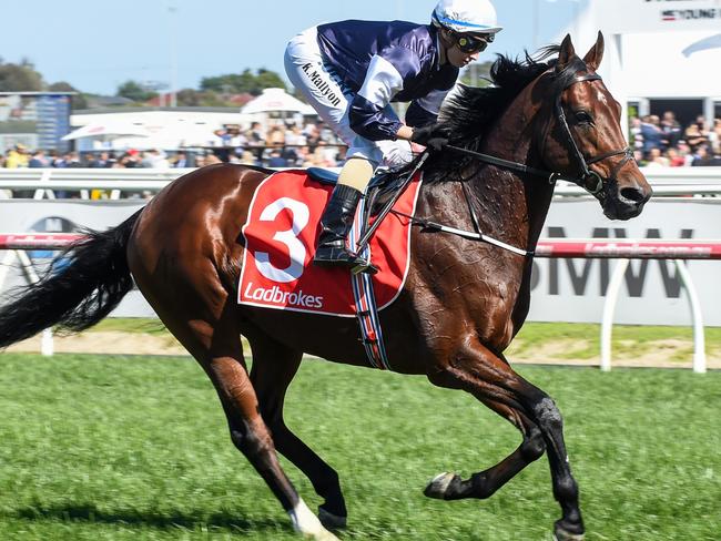
{"label": "dark leather bridle and reins on the bay horse's head", "polygon": [[[541,176],[548,178],[548,182],[550,184],[555,184],[556,181],[560,181],[560,180],[572,182],[573,184],[586,190],[589,194],[591,194],[593,197],[601,201],[602,203],[603,188],[606,184],[608,182],[616,181],[616,175],[618,175],[621,169],[623,169],[623,166],[629,162],[636,162],[636,159],[633,157],[633,151],[630,146],[627,146],[626,149],[618,150],[618,151],[607,152],[605,154],[601,154],[600,156],[595,156],[595,157],[586,157],[581,152],[581,150],[578,147],[578,144],[573,139],[573,134],[571,133],[571,129],[568,125],[568,120],[566,118],[566,111],[563,111],[563,104],[561,103],[561,98],[563,95],[563,92],[568,90],[570,86],[586,81],[602,81],[602,78],[596,73],[588,73],[586,75],[579,75],[573,78],[566,86],[561,88],[558,91],[558,94],[555,100],[555,105],[554,105],[554,111],[556,113],[558,123],[561,127],[561,134],[563,135],[565,143],[568,147],[569,154],[577,162],[580,171],[580,174],[576,177],[570,177],[569,175],[566,175],[563,173],[557,173],[557,172],[531,167],[522,163],[511,162],[509,160],[504,160],[488,154],[483,154],[480,152],[475,152],[468,149],[463,149],[460,146],[454,146],[450,144],[445,145],[444,149],[447,149],[449,151],[459,154],[465,154],[467,156],[474,157],[480,162],[488,163],[490,165],[497,165],[499,167],[517,171],[524,174]],[[609,157],[615,157],[620,155],[623,156],[623,160],[621,160],[613,167],[611,174],[608,177],[602,176],[596,170],[591,169],[591,165],[596,163],[600,163],[603,160],[608,160]]]}

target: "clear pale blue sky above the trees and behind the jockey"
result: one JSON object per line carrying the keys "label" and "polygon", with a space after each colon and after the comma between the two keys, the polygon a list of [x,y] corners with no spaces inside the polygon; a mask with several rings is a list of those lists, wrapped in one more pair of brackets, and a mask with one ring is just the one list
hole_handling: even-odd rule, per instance
{"label": "clear pale blue sky above the trees and behind the jockey", "polygon": [[[3,2],[0,57],[27,58],[45,81],[113,94],[126,80],[171,80],[197,88],[204,76],[246,68],[283,72],[290,38],[322,21],[403,19],[427,22],[434,0],[31,0]],[[573,0],[495,0],[506,30],[492,53],[546,44],[572,19]],[[535,11],[535,6],[538,10]],[[534,17],[537,12],[538,17]],[[175,43],[175,44],[173,44]],[[481,58],[483,59],[483,58]]]}

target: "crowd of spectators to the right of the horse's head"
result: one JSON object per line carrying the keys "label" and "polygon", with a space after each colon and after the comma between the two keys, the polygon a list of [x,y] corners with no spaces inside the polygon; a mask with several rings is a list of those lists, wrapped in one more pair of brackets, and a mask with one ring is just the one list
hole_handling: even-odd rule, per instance
{"label": "crowd of spectators to the right of the horse's head", "polygon": [[683,126],[673,112],[631,119],[631,145],[648,167],[721,166],[721,119],[704,116]]}

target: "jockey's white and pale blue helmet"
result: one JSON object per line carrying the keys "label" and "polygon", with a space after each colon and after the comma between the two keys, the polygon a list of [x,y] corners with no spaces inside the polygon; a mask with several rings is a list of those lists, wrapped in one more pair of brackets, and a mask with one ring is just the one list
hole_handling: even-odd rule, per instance
{"label": "jockey's white and pale blue helmet", "polygon": [[456,33],[492,35],[504,29],[498,25],[496,8],[490,0],[440,0],[431,21]]}

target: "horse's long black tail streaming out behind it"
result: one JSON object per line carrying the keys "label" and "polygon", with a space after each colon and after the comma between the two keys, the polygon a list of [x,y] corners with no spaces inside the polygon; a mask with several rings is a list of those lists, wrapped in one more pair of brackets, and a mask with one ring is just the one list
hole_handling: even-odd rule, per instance
{"label": "horse's long black tail streaming out behind it", "polygon": [[112,229],[85,232],[40,282],[14,290],[0,308],[0,348],[53,325],[77,333],[110,314],[133,286],[125,247],[139,214]]}

